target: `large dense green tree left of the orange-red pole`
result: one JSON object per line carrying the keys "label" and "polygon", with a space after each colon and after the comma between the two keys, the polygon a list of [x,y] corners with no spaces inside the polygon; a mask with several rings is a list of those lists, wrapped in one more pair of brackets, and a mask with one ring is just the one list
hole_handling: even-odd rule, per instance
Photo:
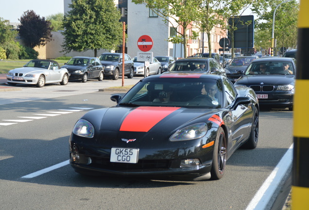
{"label": "large dense green tree left of the orange-red pole", "polygon": [[117,50],[122,43],[121,14],[113,0],[72,0],[64,16],[64,52]]}

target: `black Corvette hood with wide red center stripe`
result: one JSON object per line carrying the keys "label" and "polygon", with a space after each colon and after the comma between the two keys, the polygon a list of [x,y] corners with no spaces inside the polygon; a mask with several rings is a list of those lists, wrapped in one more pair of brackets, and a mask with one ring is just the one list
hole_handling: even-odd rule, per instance
{"label": "black Corvette hood with wide red center stripe", "polygon": [[216,111],[163,106],[114,106],[89,111],[82,118],[101,132],[155,132],[157,135],[170,136],[182,126],[206,122]]}

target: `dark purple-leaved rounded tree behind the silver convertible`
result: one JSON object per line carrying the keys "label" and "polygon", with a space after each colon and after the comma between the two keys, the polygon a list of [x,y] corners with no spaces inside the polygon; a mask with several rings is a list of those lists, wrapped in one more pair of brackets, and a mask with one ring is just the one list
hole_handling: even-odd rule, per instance
{"label": "dark purple-leaved rounded tree behind the silver convertible", "polygon": [[19,35],[27,47],[44,46],[51,40],[51,22],[40,18],[33,10],[24,12],[19,21]]}

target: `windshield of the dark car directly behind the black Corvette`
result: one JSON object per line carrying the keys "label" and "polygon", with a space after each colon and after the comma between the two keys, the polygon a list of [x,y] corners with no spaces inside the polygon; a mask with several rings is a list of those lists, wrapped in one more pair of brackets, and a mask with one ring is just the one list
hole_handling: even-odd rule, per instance
{"label": "windshield of the dark car directly behind the black Corvette", "polygon": [[176,61],[172,64],[169,71],[207,71],[207,65],[205,61]]}

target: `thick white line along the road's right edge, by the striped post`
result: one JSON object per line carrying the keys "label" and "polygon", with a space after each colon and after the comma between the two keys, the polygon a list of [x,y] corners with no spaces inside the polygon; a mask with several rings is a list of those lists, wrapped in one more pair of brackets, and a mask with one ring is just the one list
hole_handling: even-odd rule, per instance
{"label": "thick white line along the road's right edge, by the striped post", "polygon": [[292,164],[293,159],[293,144],[276,165],[273,172],[267,177],[263,185],[259,188],[256,195],[253,197],[246,210],[263,210],[266,209],[272,195],[277,186],[280,184],[287,170]]}

